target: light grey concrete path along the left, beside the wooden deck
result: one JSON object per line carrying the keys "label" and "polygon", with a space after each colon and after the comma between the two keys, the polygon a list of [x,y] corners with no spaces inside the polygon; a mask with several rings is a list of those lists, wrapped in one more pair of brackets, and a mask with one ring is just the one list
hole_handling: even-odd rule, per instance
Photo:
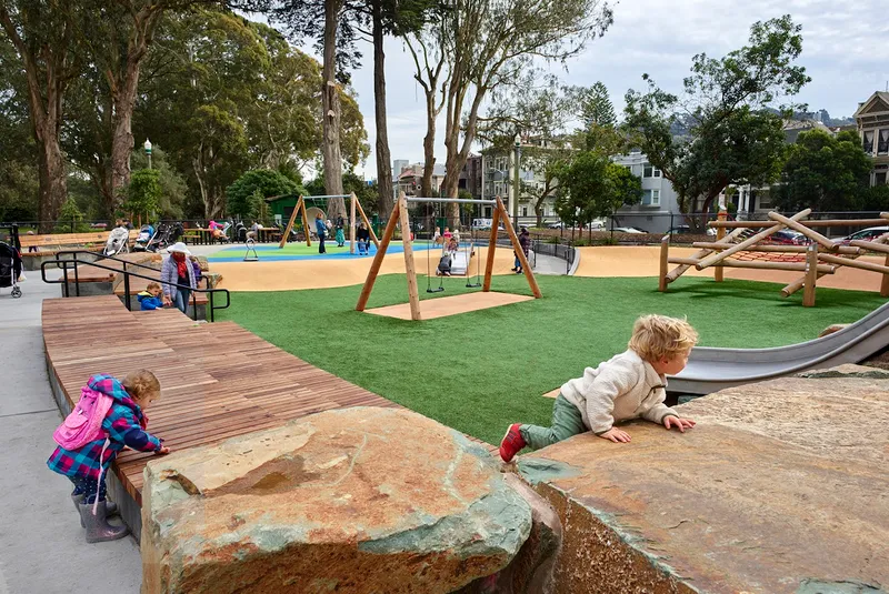
{"label": "light grey concrete path along the left, beside the wooden deck", "polygon": [[61,415],[47,379],[40,311],[59,286],[41,282],[39,271],[26,274],[21,299],[0,290],[0,594],[139,592],[136,541],[87,544],[71,483],[47,469]]}

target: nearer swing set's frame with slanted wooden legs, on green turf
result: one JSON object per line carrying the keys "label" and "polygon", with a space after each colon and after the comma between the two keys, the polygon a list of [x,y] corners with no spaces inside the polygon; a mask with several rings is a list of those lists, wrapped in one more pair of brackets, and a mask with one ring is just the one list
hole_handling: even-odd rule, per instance
{"label": "nearer swing set's frame with slanted wooden legs, on green turf", "polygon": [[398,202],[396,203],[394,208],[392,209],[392,213],[389,217],[389,221],[386,224],[386,231],[382,234],[382,240],[380,244],[377,246],[377,253],[373,256],[373,262],[370,265],[370,270],[368,271],[367,280],[364,281],[364,286],[361,290],[361,295],[358,298],[358,304],[356,305],[356,311],[364,311],[368,300],[370,299],[370,293],[373,291],[373,283],[377,281],[377,275],[380,272],[380,266],[382,265],[382,260],[386,256],[386,250],[389,248],[389,243],[392,241],[392,236],[394,235],[396,225],[401,224],[402,230],[402,242],[404,245],[404,269],[408,275],[408,295],[410,299],[410,319],[413,321],[422,320],[422,315],[420,312],[420,293],[419,288],[417,284],[417,271],[414,270],[414,262],[413,262],[413,246],[411,243],[411,233],[410,233],[410,215],[408,213],[408,203],[411,202],[439,202],[439,203],[459,203],[459,204],[487,204],[493,207],[493,222],[491,224],[491,235],[488,243],[488,253],[487,253],[487,261],[485,265],[485,280],[482,282],[482,292],[488,293],[491,291],[491,275],[493,272],[493,260],[495,253],[497,250],[497,232],[498,225],[500,222],[505,222],[506,230],[509,234],[509,239],[512,243],[512,249],[516,252],[516,255],[521,263],[522,271],[525,273],[525,278],[528,280],[528,285],[531,289],[536,299],[540,299],[542,294],[540,293],[540,288],[537,284],[537,279],[535,279],[533,271],[531,271],[531,266],[528,263],[528,259],[525,256],[525,251],[521,249],[519,244],[519,238],[516,235],[516,230],[509,222],[509,213],[503,207],[503,201],[500,200],[500,197],[497,197],[495,200],[470,200],[470,199],[457,199],[457,198],[408,198],[401,192],[398,197]]}

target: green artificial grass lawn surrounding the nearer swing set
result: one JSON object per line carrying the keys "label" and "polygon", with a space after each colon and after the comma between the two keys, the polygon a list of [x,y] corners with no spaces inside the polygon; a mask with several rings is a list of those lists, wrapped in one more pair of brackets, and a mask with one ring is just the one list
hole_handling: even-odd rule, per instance
{"label": "green artificial grass lawn surrounding the nearer swing set", "polygon": [[[446,279],[447,291],[471,291]],[[219,319],[234,320],[300,359],[489,443],[512,422],[548,423],[541,397],[626,349],[642,313],[687,315],[705,346],[763,348],[810,340],[883,303],[877,293],[818,290],[781,299],[771,283],[680,279],[657,292],[655,279],[539,276],[542,300],[424,321],[354,311],[359,286],[238,293]],[[436,281],[437,283],[437,281]],[[523,278],[496,276],[493,289],[530,294]],[[407,302],[403,275],[377,280],[369,308]]]}

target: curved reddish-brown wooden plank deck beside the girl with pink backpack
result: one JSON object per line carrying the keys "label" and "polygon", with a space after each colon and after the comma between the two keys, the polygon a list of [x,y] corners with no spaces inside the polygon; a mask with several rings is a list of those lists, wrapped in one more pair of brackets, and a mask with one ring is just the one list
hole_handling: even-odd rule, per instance
{"label": "curved reddish-brown wooden plank deck beside the girl with pink backpack", "polygon": [[[398,405],[278,349],[233,322],[197,324],[178,310],[129,312],[113,295],[43,301],[48,368],[69,403],[93,373],[151,370],[163,396],[149,431],[173,451],[347,406]],[[114,473],[141,504],[152,454],[124,451]]]}

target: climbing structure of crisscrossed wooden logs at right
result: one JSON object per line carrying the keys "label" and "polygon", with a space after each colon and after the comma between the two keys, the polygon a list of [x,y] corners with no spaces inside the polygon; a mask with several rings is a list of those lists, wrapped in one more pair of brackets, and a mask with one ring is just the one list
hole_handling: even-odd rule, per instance
{"label": "climbing structure of crisscrossed wooden logs at right", "polygon": [[[889,296],[889,233],[885,233],[872,241],[851,241],[849,245],[841,245],[830,240],[812,228],[823,226],[873,226],[889,223],[889,212],[880,213],[879,219],[853,220],[806,220],[811,214],[811,209],[798,212],[793,217],[785,217],[778,212],[769,213],[769,221],[727,221],[727,213],[721,211],[717,221],[708,223],[716,228],[717,239],[713,242],[695,242],[698,248],[691,258],[670,258],[670,236],[661,240],[660,273],[658,290],[667,291],[667,286],[681,276],[691,266],[697,270],[713,268],[713,278],[722,281],[725,268],[747,268],[760,270],[781,270],[802,272],[795,282],[781,289],[782,296],[790,296],[803,289],[803,306],[815,306],[815,292],[818,279],[825,274],[833,274],[841,266],[856,268],[877,272],[882,275],[880,295]],[[732,231],[727,234],[727,230]],[[758,233],[739,241],[745,230],[760,229]],[[781,230],[791,230],[803,234],[811,240],[809,245],[768,245],[763,242]],[[886,262],[859,261],[867,253],[886,254]],[[766,255],[767,259],[740,260],[745,255]],[[796,258],[788,258],[788,255]],[[731,258],[736,256],[736,258]],[[803,259],[805,256],[805,259]],[[777,261],[776,261],[777,260]],[[798,260],[798,261],[788,261]],[[678,264],[669,270],[670,264]]]}

